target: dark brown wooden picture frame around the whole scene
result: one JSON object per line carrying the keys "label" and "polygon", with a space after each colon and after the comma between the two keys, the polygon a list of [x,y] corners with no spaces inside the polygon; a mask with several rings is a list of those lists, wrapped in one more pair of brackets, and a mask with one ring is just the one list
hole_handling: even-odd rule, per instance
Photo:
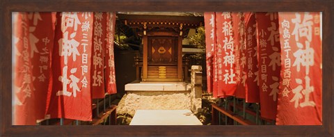
{"label": "dark brown wooden picture frame around the whole scene", "polygon": [[[333,1],[1,1],[1,136],[333,136]],[[323,12],[322,126],[12,126],[11,12],[13,11],[321,11]],[[307,115],[307,114],[305,114]]]}

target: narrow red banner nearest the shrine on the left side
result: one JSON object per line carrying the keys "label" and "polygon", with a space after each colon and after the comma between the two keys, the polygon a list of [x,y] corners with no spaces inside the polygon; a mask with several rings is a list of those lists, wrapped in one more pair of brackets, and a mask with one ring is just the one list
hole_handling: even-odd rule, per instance
{"label": "narrow red banner nearest the shrine on the left side", "polygon": [[105,67],[106,71],[106,92],[111,95],[117,92],[116,90],[116,75],[115,75],[115,58],[113,55],[113,40],[115,33],[116,13],[106,13],[106,56]]}

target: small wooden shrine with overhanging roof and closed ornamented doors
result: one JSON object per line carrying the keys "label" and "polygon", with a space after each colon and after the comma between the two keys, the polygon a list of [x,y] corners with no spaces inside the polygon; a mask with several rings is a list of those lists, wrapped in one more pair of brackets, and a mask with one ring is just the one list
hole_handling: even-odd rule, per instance
{"label": "small wooden shrine with overhanging roof and closed ornamented doors", "polygon": [[203,25],[203,17],[120,14],[118,19],[142,38],[142,82],[184,81],[182,40]]}

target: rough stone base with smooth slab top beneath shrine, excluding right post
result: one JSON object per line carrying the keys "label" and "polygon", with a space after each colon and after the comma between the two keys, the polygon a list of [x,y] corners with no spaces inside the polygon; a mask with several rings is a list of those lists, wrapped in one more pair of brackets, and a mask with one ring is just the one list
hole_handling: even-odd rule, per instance
{"label": "rough stone base with smooth slab top beneath shrine, excluding right post", "polygon": [[136,110],[191,109],[189,83],[129,83],[120,100],[117,113],[134,116]]}

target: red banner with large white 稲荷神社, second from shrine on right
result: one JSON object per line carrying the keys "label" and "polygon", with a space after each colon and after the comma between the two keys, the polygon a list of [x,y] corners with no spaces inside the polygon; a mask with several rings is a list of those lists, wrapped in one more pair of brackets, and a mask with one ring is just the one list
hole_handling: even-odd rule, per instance
{"label": "red banner with large white \u7a32\u8377\u795e\u793e, second from shrine on right", "polygon": [[216,13],[216,70],[218,97],[234,96],[234,40],[230,12]]}

